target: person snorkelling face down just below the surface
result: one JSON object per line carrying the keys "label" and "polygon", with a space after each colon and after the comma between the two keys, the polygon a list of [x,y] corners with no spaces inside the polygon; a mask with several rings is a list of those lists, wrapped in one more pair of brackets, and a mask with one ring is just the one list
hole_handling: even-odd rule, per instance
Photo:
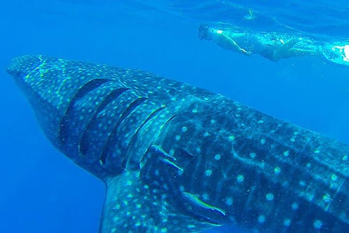
{"label": "person snorkelling face down just below the surface", "polygon": [[253,32],[238,27],[199,27],[199,38],[212,40],[226,50],[245,55],[259,54],[277,62],[288,57],[316,56],[325,61],[349,66],[349,43],[326,42],[299,34],[282,32]]}

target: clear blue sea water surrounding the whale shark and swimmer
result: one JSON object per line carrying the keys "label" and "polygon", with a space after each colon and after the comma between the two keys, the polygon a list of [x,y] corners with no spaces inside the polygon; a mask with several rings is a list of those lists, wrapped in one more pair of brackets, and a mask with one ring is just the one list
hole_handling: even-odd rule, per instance
{"label": "clear blue sea water surrounding the whale shark and swimmer", "polygon": [[101,181],[44,137],[4,71],[17,55],[42,53],[141,68],[349,143],[348,67],[315,58],[273,63],[197,37],[200,23],[224,22],[348,39],[348,1],[309,2],[2,0],[0,232],[96,233],[105,192]]}

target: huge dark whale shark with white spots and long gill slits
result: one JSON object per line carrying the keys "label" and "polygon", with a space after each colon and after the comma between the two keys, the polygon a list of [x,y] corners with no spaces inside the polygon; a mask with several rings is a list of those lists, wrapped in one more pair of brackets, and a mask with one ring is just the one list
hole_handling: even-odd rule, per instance
{"label": "huge dark whale shark with white spots and long gill slits", "polygon": [[100,233],[348,233],[349,146],[139,69],[6,68],[51,144],[107,188]]}

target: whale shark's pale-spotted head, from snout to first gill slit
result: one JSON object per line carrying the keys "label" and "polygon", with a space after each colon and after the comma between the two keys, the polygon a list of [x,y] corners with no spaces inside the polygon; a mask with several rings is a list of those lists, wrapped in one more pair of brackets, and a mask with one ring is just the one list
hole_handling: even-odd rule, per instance
{"label": "whale shark's pale-spotted head, from snout to first gill slit", "polygon": [[64,117],[76,104],[74,99],[107,81],[88,67],[88,63],[82,67],[63,59],[25,55],[13,59],[6,68],[31,103],[44,133],[61,152],[66,134]]}

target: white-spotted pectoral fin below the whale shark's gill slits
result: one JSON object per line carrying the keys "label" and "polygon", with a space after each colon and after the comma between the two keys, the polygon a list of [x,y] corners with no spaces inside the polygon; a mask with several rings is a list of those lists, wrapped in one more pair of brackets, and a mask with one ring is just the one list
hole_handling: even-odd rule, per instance
{"label": "white-spotted pectoral fin below the whale shark's gill slits", "polygon": [[100,233],[198,233],[214,227],[178,208],[168,189],[144,183],[140,171],[109,178],[106,184]]}

